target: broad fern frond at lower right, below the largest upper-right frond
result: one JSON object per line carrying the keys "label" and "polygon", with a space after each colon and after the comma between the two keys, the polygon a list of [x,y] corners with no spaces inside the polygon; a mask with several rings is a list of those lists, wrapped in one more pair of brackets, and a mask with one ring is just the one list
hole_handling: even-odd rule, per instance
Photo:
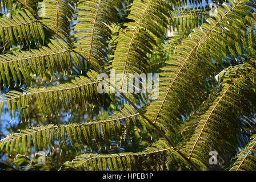
{"label": "broad fern frond at lower right, below the largest upper-right frond", "polygon": [[[242,122],[239,121],[239,117],[250,113],[256,101],[255,93],[251,90],[255,88],[254,78],[247,77],[253,76],[255,69],[250,69],[250,65],[243,64],[226,72],[229,77],[223,77],[223,88],[205,113],[200,115],[194,134],[182,148],[181,151],[199,166],[208,168],[210,151],[218,151],[218,154],[223,156],[235,145],[239,146],[233,135],[241,128]],[[251,105],[246,105],[246,98],[250,98]],[[223,141],[229,143],[223,144]]]}

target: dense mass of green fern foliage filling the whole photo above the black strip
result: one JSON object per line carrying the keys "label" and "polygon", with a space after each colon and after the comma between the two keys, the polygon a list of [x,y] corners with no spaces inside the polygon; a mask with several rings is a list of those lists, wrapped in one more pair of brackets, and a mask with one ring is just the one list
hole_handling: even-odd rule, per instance
{"label": "dense mass of green fern foliage filling the whole photo above the black strip", "polygon": [[0,168],[255,170],[256,2],[211,2],[2,0]]}

